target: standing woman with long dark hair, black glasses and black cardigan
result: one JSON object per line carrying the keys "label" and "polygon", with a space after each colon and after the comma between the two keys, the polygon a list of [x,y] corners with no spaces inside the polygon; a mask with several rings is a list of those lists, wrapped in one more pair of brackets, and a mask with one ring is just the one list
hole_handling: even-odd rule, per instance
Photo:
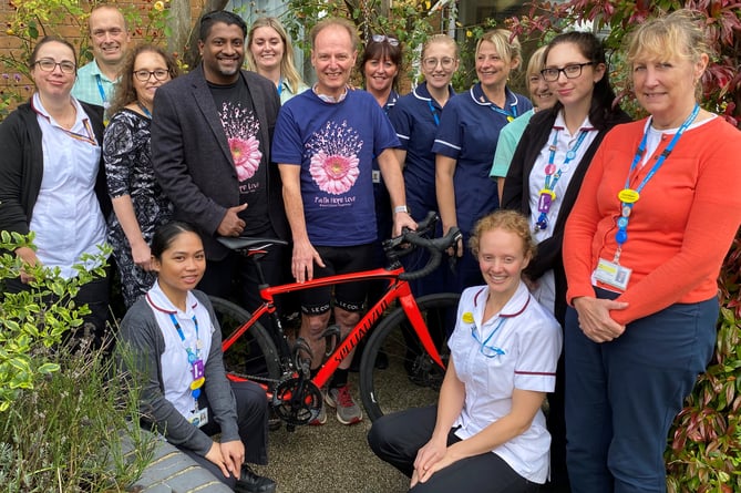
{"label": "standing woman with long dark hair, black glasses and black cardigan", "polygon": [[[531,119],[504,182],[502,207],[529,217],[538,255],[525,270],[533,296],[564,325],[566,274],[562,255],[566,218],[599,143],[616,124],[629,121],[614,105],[605,51],[588,32],[559,34],[548,43],[541,71],[556,104]],[[548,430],[553,436],[552,486],[565,487],[566,430],[564,372],[560,361],[556,391],[548,397]]]}

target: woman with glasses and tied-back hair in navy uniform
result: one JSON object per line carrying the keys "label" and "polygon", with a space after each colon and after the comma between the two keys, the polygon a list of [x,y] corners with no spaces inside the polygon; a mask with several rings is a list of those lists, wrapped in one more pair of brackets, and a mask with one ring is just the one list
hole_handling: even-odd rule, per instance
{"label": "woman with glasses and tied-back hair in navy uniform", "polygon": [[[435,154],[432,145],[440,119],[450,99],[455,95],[451,79],[459,68],[459,49],[446,34],[433,34],[422,45],[420,69],[424,80],[401,96],[389,111],[401,147],[394,150],[403,166],[406,206],[414,220],[438,210],[435,195]],[[404,265],[424,265],[429,254],[415,251],[403,258]],[[446,265],[419,281],[412,281],[416,296],[450,290],[451,275]],[[445,289],[447,287],[447,289]]]}

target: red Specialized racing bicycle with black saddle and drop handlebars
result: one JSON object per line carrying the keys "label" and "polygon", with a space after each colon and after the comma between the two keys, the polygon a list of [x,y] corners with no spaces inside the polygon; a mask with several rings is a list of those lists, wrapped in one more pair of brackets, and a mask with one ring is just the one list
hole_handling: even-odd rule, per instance
{"label": "red Specialized racing bicycle with black saddle and drop handlebars", "polygon": [[[294,430],[296,425],[306,424],[318,415],[322,401],[320,389],[342,360],[361,340],[368,338],[359,366],[359,387],[363,408],[371,420],[389,412],[436,402],[447,359],[446,339],[455,325],[460,294],[443,292],[415,298],[409,284],[438,268],[443,255],[447,255],[445,251],[454,249],[461,238],[456,228],[443,237],[430,238],[436,222],[438,216],[431,213],[418,225],[416,230],[406,230],[384,242],[384,253],[389,260],[387,268],[280,286],[265,284],[259,261],[271,246],[285,245],[285,242],[219,238],[222,244],[257,263],[263,283],[260,296],[264,301],[251,314],[231,301],[210,298],[222,326],[228,377],[260,383],[266,389],[275,413],[286,422],[289,430]],[[421,269],[405,271],[400,258],[421,248],[429,251],[429,260]],[[336,326],[330,326],[322,333],[327,340],[326,355],[311,355],[305,340],[291,339],[284,331],[282,320],[277,314],[276,296],[374,279],[388,280],[385,292],[344,339],[340,340]],[[265,316],[270,317],[271,323],[260,323],[260,318]],[[388,360],[388,364],[377,364],[379,353]],[[323,362],[319,372],[311,378],[309,368],[311,359],[316,357],[322,357]]]}

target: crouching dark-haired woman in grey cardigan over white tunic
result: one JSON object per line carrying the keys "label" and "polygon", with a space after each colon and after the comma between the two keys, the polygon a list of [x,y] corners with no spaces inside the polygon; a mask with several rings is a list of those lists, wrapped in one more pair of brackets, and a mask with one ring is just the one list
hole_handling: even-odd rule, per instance
{"label": "crouching dark-haired woman in grey cardigan over white tunic", "polygon": [[[157,280],[121,321],[119,355],[141,386],[142,424],[244,492],[276,483],[245,462],[267,463],[268,401],[254,382],[229,382],[222,332],[208,297],[193,290],[206,269],[200,236],[185,223],[152,239]],[[212,435],[220,432],[219,441]]]}

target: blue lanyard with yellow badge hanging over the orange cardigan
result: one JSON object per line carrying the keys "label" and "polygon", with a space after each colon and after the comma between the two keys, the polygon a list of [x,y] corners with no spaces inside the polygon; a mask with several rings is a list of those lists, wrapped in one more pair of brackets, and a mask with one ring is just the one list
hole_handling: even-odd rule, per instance
{"label": "blue lanyard with yellow badge hanging over the orange cardigan", "polygon": [[697,117],[699,112],[700,112],[700,105],[694,103],[692,113],[690,113],[687,120],[685,120],[685,122],[681,124],[675,136],[671,138],[671,142],[669,142],[669,145],[667,145],[663,152],[661,152],[661,154],[657,157],[653,167],[651,167],[651,170],[644,177],[638,187],[632,189],[630,188],[630,177],[632,176],[634,172],[636,171],[636,167],[638,166],[638,163],[640,163],[641,158],[644,157],[644,154],[646,153],[646,144],[648,141],[648,129],[651,122],[648,122],[648,125],[646,125],[646,131],[644,131],[644,137],[640,140],[640,144],[638,145],[636,155],[632,158],[632,163],[630,163],[630,170],[628,171],[628,176],[625,179],[625,188],[618,192],[618,198],[620,199],[620,206],[621,206],[620,207],[621,214],[617,222],[618,230],[615,234],[615,240],[617,242],[618,247],[617,250],[615,251],[615,258],[613,261],[615,261],[616,264],[620,260],[620,251],[622,250],[622,245],[625,245],[625,243],[628,240],[627,229],[634,204],[638,202],[638,199],[640,198],[640,193],[642,192],[646,184],[653,177],[656,172],[659,171],[661,165],[663,165],[663,162],[667,161],[667,157],[669,157],[671,152],[675,150],[677,142],[679,142],[679,138],[682,136],[685,131],[692,124],[692,122],[694,122],[694,119]]}

